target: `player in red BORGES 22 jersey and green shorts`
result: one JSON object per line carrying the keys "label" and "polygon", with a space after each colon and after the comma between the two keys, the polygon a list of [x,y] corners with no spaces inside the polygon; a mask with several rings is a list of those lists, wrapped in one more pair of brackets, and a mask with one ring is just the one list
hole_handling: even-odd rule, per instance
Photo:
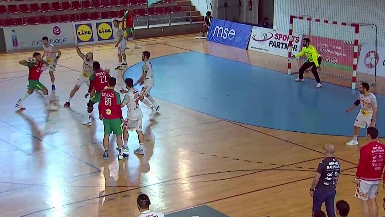
{"label": "player in red BORGES 22 jersey and green shorts", "polygon": [[84,125],[92,125],[91,113],[94,110],[94,104],[100,102],[100,92],[108,88],[108,79],[110,74],[107,70],[101,70],[100,63],[94,61],[92,64],[94,74],[90,76],[90,84],[92,83],[92,91],[90,100],[87,103],[88,119],[83,122]]}

